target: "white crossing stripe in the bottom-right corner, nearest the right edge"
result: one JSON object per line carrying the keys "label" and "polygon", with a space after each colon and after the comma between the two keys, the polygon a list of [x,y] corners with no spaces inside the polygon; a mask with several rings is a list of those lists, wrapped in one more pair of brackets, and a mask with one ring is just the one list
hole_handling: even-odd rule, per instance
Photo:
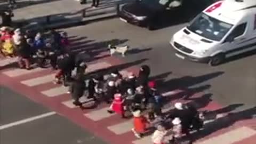
{"label": "white crossing stripe in the bottom-right corner, nearest the right edge", "polygon": [[238,129],[220,134],[216,137],[198,142],[197,144],[213,144],[213,143],[232,144],[234,142],[252,137],[254,134],[256,134],[255,130],[250,129],[249,127],[243,126],[243,127],[239,127]]}

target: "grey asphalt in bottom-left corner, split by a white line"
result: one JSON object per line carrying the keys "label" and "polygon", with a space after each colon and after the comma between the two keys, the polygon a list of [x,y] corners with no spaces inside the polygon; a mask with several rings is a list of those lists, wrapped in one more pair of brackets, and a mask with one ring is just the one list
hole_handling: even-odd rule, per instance
{"label": "grey asphalt in bottom-left corner, split by a white line", "polygon": [[106,144],[58,114],[2,129],[7,124],[50,111],[5,87],[0,87],[0,95],[0,143]]}

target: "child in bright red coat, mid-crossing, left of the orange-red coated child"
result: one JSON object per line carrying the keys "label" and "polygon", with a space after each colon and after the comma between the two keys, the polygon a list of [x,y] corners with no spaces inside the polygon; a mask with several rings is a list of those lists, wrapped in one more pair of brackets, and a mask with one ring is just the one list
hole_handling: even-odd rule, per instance
{"label": "child in bright red coat, mid-crossing, left of the orange-red coated child", "polygon": [[110,109],[108,110],[109,113],[117,113],[122,115],[123,118],[125,118],[124,115],[124,100],[122,98],[122,94],[121,93],[116,93],[114,95],[114,100],[111,103]]}

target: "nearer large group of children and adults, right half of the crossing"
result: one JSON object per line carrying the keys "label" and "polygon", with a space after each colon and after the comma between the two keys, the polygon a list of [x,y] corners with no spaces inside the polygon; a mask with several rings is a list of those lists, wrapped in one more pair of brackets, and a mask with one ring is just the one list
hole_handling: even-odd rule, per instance
{"label": "nearer large group of children and adults, right half of the crossing", "polygon": [[138,77],[132,73],[123,77],[118,70],[113,70],[108,77],[91,76],[87,83],[83,77],[85,72],[86,66],[70,85],[69,93],[75,100],[74,105],[83,105],[79,98],[87,90],[87,98],[110,104],[108,113],[117,113],[122,118],[132,116],[132,131],[137,138],[154,130],[151,137],[154,144],[178,144],[191,129],[202,128],[199,113],[193,107],[178,102],[170,113],[162,113],[164,98],[157,92],[156,82],[149,79],[150,68],[147,65],[141,66]]}

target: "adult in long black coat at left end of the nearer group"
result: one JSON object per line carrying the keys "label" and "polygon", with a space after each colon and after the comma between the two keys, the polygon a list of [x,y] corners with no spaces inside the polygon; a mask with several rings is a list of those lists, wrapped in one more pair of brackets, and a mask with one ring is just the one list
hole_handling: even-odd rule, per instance
{"label": "adult in long black coat at left end of the nearer group", "polygon": [[75,100],[73,102],[76,106],[81,106],[82,103],[79,101],[79,98],[83,97],[84,91],[86,88],[86,84],[84,82],[82,75],[77,75],[75,81],[71,85],[71,95],[72,98]]}

